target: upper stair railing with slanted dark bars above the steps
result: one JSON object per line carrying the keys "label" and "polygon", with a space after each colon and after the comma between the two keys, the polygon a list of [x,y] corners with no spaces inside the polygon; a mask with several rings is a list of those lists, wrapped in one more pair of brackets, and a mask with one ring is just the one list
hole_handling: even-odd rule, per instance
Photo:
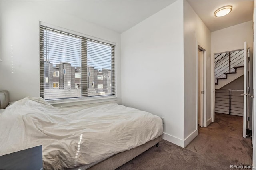
{"label": "upper stair railing with slanted dark bars above the steps", "polygon": [[216,78],[224,78],[224,73],[234,71],[233,67],[244,65],[244,49],[230,51],[214,55],[215,69],[214,75]]}

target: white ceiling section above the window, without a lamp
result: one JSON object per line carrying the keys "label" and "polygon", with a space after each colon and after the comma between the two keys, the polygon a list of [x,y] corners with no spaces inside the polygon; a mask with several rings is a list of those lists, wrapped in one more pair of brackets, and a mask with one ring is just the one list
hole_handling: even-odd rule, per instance
{"label": "white ceiling section above the window, without a lamp", "polygon": [[122,33],[176,0],[44,0],[43,5]]}

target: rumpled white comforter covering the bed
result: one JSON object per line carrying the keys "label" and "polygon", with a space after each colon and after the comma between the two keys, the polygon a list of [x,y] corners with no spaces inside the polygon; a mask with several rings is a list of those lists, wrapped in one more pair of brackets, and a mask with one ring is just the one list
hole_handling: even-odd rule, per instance
{"label": "rumpled white comforter covering the bed", "polygon": [[160,136],[156,115],[116,103],[57,108],[26,97],[0,114],[0,155],[42,145],[45,169],[103,160]]}

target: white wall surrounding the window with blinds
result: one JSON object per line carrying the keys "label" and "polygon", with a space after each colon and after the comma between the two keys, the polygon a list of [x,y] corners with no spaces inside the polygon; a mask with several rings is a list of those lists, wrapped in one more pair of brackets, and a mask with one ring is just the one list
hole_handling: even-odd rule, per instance
{"label": "white wall surrounding the window with blinds", "polygon": [[0,1],[0,90],[8,90],[11,101],[40,96],[39,21],[116,43],[120,103],[120,34],[58,9],[46,9],[43,1]]}

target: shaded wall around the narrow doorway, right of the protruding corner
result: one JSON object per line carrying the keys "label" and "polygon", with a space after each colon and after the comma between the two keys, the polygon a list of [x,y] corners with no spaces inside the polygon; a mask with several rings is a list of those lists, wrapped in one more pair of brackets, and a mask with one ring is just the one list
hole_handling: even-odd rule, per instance
{"label": "shaded wall around the narrow doorway, right of the protruding corner", "polygon": [[211,32],[184,0],[184,139],[185,146],[197,130],[197,61],[198,45],[206,57],[206,121],[211,122]]}

